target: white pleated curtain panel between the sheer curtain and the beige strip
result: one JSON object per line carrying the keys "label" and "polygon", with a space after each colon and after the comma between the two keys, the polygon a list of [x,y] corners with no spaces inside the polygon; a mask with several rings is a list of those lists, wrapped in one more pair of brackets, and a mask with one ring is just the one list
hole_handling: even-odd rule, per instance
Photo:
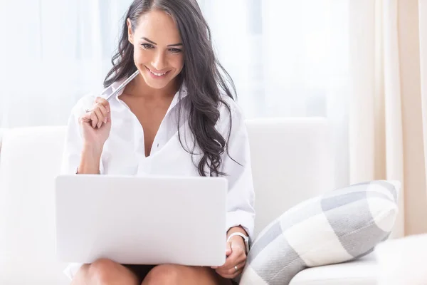
{"label": "white pleated curtain panel between the sheer curtain and the beige strip", "polygon": [[[404,182],[397,1],[352,1],[350,7],[350,183]],[[404,235],[404,193],[399,198],[395,237]]]}

